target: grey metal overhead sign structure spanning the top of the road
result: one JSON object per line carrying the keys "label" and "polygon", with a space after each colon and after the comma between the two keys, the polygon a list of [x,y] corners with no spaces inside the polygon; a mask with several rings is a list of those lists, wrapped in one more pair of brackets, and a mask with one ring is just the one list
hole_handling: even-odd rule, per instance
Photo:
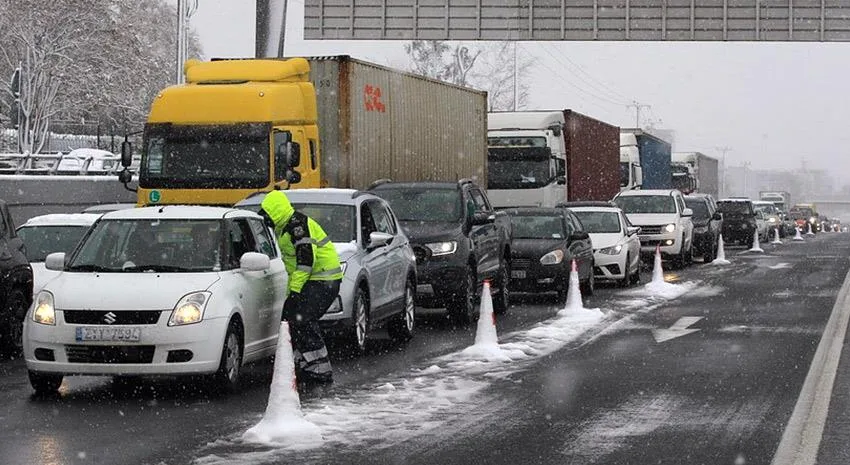
{"label": "grey metal overhead sign structure spanning the top of the road", "polygon": [[304,0],[304,38],[842,42],[850,1]]}

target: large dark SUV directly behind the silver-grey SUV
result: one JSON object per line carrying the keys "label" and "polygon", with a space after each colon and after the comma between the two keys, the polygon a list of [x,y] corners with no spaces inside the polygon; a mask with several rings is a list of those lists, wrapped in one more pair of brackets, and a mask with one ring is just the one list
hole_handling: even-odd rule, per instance
{"label": "large dark SUV directly behind the silver-grey SUV", "polygon": [[386,200],[416,254],[416,302],[445,307],[467,324],[478,316],[479,286],[491,280],[493,310],[508,308],[510,219],[494,211],[471,180],[377,181],[370,191]]}

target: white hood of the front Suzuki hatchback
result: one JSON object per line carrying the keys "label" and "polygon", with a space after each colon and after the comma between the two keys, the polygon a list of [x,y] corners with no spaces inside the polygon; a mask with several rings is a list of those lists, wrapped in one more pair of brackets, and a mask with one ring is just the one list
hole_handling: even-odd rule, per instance
{"label": "white hood of the front Suzuki hatchback", "polygon": [[61,272],[44,289],[58,310],[170,310],[184,295],[208,289],[219,273]]}

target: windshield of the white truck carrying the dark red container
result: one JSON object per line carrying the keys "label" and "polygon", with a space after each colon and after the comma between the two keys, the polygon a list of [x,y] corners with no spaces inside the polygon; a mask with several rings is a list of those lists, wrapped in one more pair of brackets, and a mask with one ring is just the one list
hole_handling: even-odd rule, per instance
{"label": "windshield of the white truck carrying the dark red container", "polygon": [[552,151],[545,147],[490,147],[488,189],[539,189],[552,182]]}

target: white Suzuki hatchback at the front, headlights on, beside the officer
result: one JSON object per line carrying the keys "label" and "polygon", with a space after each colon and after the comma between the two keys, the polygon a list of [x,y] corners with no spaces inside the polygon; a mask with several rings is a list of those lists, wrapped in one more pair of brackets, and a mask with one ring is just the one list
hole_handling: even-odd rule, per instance
{"label": "white Suzuki hatchback at the front, headlights on, beside the officer", "polygon": [[104,214],[24,319],[24,359],[39,393],[66,375],[212,375],[225,389],[244,363],[274,354],[287,274],[252,212],[158,206]]}

